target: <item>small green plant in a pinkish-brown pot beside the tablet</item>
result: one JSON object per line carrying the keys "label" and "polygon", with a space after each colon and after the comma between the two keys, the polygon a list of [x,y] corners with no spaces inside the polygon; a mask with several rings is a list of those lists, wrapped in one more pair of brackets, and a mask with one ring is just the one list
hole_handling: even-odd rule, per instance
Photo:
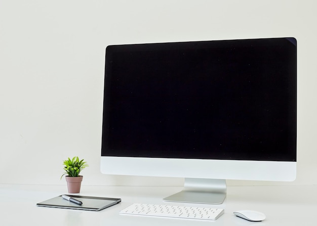
{"label": "small green plant in a pinkish-brown pot beside the tablet", "polygon": [[67,174],[65,178],[68,193],[80,193],[83,181],[83,176],[80,175],[80,172],[88,166],[87,162],[84,162],[84,159],[80,160],[78,156],[75,156],[72,159],[68,158],[65,160],[63,165],[65,165],[64,170],[66,171],[63,175]]}

